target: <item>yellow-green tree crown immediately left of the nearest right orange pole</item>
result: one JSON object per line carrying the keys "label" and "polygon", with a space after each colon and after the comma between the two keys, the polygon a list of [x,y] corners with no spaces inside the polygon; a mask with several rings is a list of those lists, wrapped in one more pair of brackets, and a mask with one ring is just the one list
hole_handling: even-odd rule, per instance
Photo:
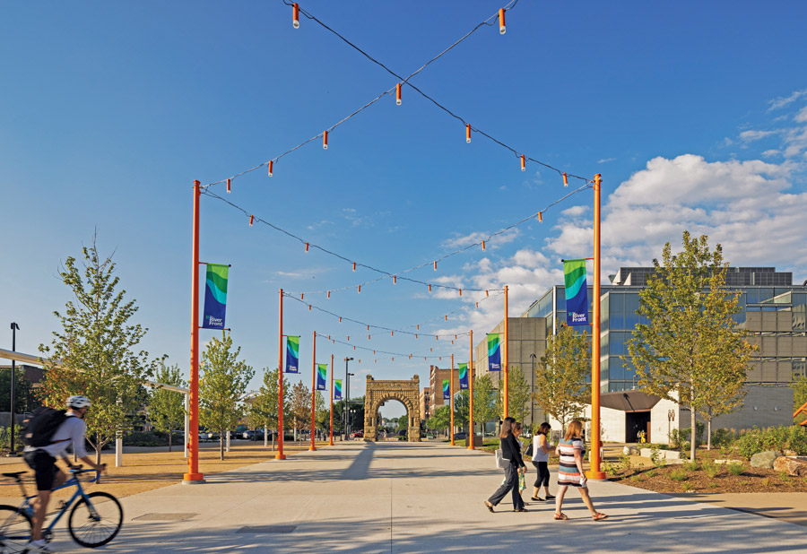
{"label": "yellow-green tree crown immediately left of the nearest right orange pole", "polygon": [[546,351],[535,368],[535,403],[555,420],[562,431],[588,402],[590,345],[586,332],[562,325],[546,339]]}

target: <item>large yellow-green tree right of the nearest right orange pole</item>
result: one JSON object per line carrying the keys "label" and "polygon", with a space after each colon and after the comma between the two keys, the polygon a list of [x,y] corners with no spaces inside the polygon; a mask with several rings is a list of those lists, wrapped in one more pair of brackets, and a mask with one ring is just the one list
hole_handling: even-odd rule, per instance
{"label": "large yellow-green tree right of the nearest right orange pole", "polygon": [[752,347],[747,332],[735,328],[739,292],[725,289],[723,248],[710,251],[706,235],[683,233],[683,250],[672,255],[668,242],[662,263],[639,293],[640,323],[627,342],[623,361],[635,368],[648,393],[690,408],[690,459],[695,460],[696,412],[731,410],[745,381]]}

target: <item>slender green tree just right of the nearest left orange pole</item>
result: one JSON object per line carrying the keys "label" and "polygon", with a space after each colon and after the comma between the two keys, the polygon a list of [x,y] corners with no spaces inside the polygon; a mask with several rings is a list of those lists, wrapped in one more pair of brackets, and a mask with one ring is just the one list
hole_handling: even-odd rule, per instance
{"label": "slender green tree just right of the nearest left orange pole", "polygon": [[213,337],[202,354],[199,378],[199,423],[219,432],[219,459],[224,459],[224,433],[238,425],[243,415],[241,397],[255,371],[233,351],[230,333]]}

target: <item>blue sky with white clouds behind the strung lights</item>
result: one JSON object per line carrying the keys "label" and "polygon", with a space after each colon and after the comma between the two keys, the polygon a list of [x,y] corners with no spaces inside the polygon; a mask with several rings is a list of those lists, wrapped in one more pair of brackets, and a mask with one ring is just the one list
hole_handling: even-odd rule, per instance
{"label": "blue sky with white clouds behind the strung lights", "polygon": [[[334,3],[301,7],[398,74],[496,13],[504,2]],[[647,264],[681,231],[721,242],[733,265],[776,265],[807,279],[807,4],[550,4],[521,0],[508,32],[484,27],[412,83],[517,151],[562,171],[603,174],[603,274]],[[0,314],[35,352],[69,299],[56,278],[99,233],[140,306],[152,354],[187,368],[191,184],[255,167],[395,86],[316,22],[291,27],[281,0],[239,4],[15,3],[0,21]],[[233,181],[227,199],[349,259],[396,273],[542,210],[570,189],[404,87],[320,141]],[[571,186],[575,186],[574,183]],[[226,195],[223,186],[213,186]],[[574,195],[485,252],[473,248],[411,273],[466,288],[508,284],[517,314],[561,282],[561,257],[590,255],[589,192]],[[277,291],[331,290],[375,277],[202,198],[202,259],[232,264],[228,325],[258,371],[277,360]],[[381,281],[312,303],[372,325],[432,320],[431,333],[478,337],[499,300],[429,295]],[[448,312],[449,321],[434,321]],[[287,303],[285,330],[378,350],[466,361],[467,343],[377,334]],[[8,329],[4,323],[4,329]],[[10,347],[10,332],[3,339]],[[204,339],[205,333],[202,332]],[[209,335],[208,335],[209,336]],[[358,341],[357,337],[362,337]],[[433,342],[433,341],[432,341]],[[351,370],[428,379],[421,361],[373,357]],[[433,352],[427,352],[428,349]],[[373,363],[377,359],[377,363]],[[337,364],[341,368],[342,364]],[[341,371],[343,373],[343,370]],[[337,373],[338,376],[338,373]],[[258,377],[256,377],[257,383]],[[363,378],[351,383],[363,391]],[[397,412],[403,412],[398,407]],[[395,411],[395,410],[393,410]],[[396,413],[397,413],[396,412]],[[392,413],[392,412],[389,412]]]}

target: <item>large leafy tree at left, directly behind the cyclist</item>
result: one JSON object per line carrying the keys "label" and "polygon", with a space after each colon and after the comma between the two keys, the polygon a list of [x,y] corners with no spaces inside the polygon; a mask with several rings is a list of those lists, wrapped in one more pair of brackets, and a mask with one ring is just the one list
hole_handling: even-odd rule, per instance
{"label": "large leafy tree at left, directly behind the cyclist", "polygon": [[109,257],[100,260],[96,238],[91,247],[82,247],[82,255],[82,268],[69,256],[59,271],[74,299],[64,315],[54,312],[61,330],[53,333],[51,345],[39,345],[47,358],[39,398],[57,408],[74,394],[90,399],[84,421],[100,463],[101,448],[131,425],[128,416],[139,407],[140,385],[161,360],[134,350],[148,329],[129,323],[138,308],[134,299],[126,301],[126,290],[116,290],[115,264]]}

